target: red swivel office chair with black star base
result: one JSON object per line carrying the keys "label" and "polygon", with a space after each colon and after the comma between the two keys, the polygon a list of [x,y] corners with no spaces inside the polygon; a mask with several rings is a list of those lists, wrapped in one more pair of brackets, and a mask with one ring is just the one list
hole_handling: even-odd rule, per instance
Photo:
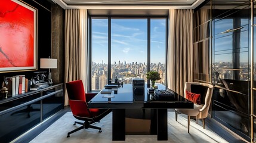
{"label": "red swivel office chair with black star base", "polygon": [[90,101],[95,96],[95,94],[85,94],[82,80],[68,82],[66,83],[66,88],[67,95],[69,96],[69,105],[73,116],[78,120],[84,120],[84,123],[75,121],[74,125],[78,123],[83,126],[67,133],[67,138],[69,138],[69,135],[71,133],[81,129],[93,128],[98,129],[98,132],[101,132],[100,127],[92,126],[91,124],[95,122],[100,122],[100,119],[109,114],[111,110],[88,108],[87,102]]}

